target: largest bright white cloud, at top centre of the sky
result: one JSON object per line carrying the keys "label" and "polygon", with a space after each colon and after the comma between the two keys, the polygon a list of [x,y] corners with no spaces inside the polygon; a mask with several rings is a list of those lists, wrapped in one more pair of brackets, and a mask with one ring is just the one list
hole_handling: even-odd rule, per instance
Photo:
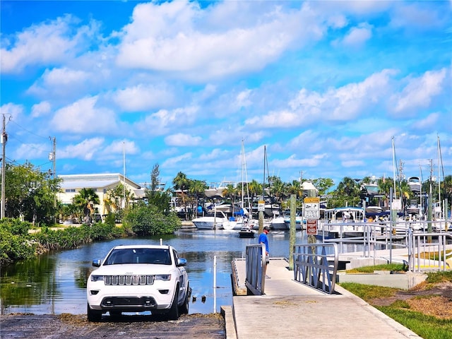
{"label": "largest bright white cloud, at top centre of the sky", "polygon": [[[132,69],[182,72],[179,76],[202,81],[262,69],[301,35],[309,40],[322,35],[309,17],[311,12],[248,14],[252,18],[237,27],[223,21],[205,32],[202,25],[210,20],[209,11],[194,2],[140,4],[133,11],[133,22],[122,32],[117,63]],[[237,11],[224,19],[237,25],[235,16]]]}

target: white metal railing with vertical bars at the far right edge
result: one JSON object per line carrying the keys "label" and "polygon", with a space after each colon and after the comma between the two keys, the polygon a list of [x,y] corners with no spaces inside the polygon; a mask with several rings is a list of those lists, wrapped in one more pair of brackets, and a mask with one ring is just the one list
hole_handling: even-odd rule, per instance
{"label": "white metal railing with vertical bars at the far right edge", "polygon": [[451,270],[452,234],[448,233],[411,233],[408,234],[408,266],[411,272],[426,270]]}

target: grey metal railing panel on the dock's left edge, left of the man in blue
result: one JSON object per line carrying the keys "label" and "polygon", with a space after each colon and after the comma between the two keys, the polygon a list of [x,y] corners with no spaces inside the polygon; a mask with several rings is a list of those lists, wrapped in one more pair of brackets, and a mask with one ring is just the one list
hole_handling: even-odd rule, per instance
{"label": "grey metal railing panel on the dock's left edge, left of the man in blue", "polygon": [[[263,295],[266,284],[266,245],[246,246],[246,288],[254,295]],[[263,254],[263,255],[262,255]]]}

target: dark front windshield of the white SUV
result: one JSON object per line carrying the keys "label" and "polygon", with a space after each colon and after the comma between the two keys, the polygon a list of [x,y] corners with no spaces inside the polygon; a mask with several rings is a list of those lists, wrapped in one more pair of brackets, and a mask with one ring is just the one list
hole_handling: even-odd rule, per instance
{"label": "dark front windshield of the white SUV", "polygon": [[114,249],[104,265],[123,263],[154,263],[171,265],[169,249]]}

